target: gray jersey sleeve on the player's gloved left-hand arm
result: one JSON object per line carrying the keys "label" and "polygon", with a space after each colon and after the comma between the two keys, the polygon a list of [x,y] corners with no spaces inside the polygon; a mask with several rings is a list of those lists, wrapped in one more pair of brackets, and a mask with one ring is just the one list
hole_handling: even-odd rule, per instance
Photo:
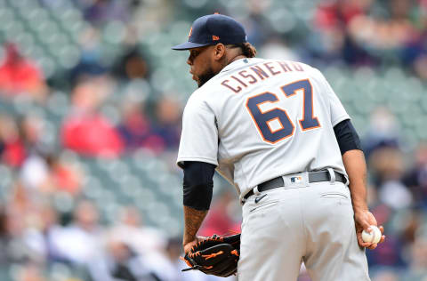
{"label": "gray jersey sleeve on the player's gloved left-hand arm", "polygon": [[205,100],[191,96],[182,116],[177,164],[199,161],[218,165],[218,128],[212,108]]}

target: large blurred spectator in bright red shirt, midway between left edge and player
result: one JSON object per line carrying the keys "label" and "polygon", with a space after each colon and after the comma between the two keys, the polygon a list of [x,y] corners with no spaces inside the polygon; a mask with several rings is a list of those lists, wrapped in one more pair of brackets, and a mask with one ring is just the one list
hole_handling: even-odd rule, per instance
{"label": "large blurred spectator in bright red shirt, midway between left edge and player", "polygon": [[117,157],[123,141],[109,120],[97,108],[109,95],[109,77],[89,77],[77,84],[73,92],[73,108],[61,129],[64,147],[88,157]]}

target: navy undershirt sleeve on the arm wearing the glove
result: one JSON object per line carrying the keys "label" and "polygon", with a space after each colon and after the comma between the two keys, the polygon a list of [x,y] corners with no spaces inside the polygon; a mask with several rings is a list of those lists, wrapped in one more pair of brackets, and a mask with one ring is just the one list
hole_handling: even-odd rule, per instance
{"label": "navy undershirt sleeve on the arm wearing the glove", "polygon": [[215,165],[184,163],[183,204],[199,211],[209,210],[214,189]]}

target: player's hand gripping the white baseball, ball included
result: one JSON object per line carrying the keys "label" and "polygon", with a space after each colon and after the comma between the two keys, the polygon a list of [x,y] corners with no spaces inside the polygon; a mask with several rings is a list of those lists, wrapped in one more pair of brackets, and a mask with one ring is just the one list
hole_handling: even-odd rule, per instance
{"label": "player's hand gripping the white baseball, ball included", "polygon": [[[384,242],[384,228],[383,226],[377,228],[377,222],[375,220],[375,216],[372,213],[369,211],[355,213],[354,220],[356,223],[356,235],[358,237],[359,246],[374,250],[378,244]],[[378,232],[378,230],[375,228],[379,229],[380,233],[375,233]],[[364,231],[366,232],[365,235],[363,235]],[[380,237],[378,242],[375,241],[378,240],[375,236]]]}

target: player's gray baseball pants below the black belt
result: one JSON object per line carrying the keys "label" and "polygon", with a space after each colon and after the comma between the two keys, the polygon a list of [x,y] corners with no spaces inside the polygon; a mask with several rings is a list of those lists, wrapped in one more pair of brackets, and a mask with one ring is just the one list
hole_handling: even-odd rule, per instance
{"label": "player's gray baseball pants below the black belt", "polygon": [[348,187],[284,181],[285,187],[255,192],[243,205],[238,280],[296,281],[302,261],[312,281],[370,280]]}

